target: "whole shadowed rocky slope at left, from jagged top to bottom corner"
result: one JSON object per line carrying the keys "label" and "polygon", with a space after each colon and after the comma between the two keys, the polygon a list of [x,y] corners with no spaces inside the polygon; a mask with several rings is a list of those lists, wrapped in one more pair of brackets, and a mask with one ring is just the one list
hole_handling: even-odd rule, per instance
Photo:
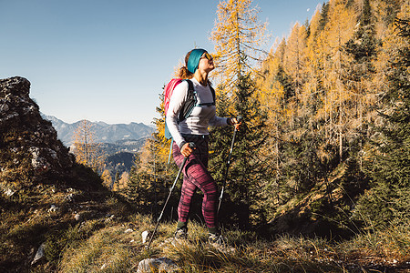
{"label": "whole shadowed rocky slope at left, from jagged top to bottom corner", "polygon": [[26,78],[0,79],[0,272],[55,272],[65,230],[115,218],[101,178],[76,163],[29,92]]}

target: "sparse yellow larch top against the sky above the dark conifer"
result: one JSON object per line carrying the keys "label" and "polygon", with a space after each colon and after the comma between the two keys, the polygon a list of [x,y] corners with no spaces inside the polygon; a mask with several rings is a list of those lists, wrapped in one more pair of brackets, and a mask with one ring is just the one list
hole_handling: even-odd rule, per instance
{"label": "sparse yellow larch top against the sky above the dark conifer", "polygon": [[251,0],[226,0],[218,5],[215,27],[210,40],[215,43],[215,78],[228,94],[238,86],[241,76],[255,70],[265,45],[266,23],[258,21],[260,10]]}

